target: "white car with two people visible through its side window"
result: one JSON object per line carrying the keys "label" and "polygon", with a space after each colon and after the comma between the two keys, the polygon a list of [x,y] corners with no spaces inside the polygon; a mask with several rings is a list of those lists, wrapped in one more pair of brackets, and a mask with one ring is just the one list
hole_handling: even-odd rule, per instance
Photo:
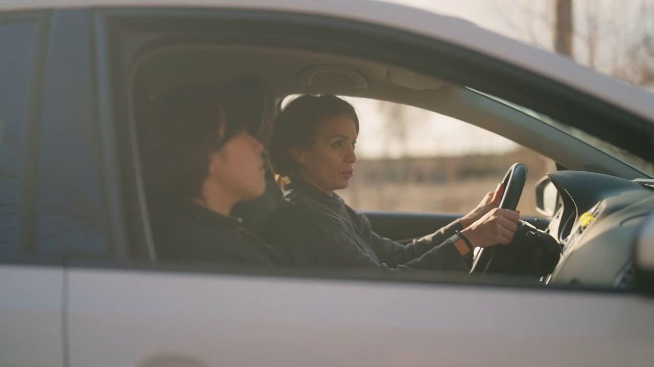
{"label": "white car with two people visible through its side window", "polygon": [[[240,74],[275,103],[409,104],[553,159],[530,221],[562,247],[554,270],[158,261],[148,102]],[[654,364],[654,98],[463,20],[354,0],[3,1],[0,138],[0,366]],[[451,219],[370,217],[396,239]]]}

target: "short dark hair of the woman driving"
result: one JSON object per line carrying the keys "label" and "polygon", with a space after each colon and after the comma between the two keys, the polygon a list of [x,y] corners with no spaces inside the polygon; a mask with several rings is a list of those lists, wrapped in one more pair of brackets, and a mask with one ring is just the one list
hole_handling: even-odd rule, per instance
{"label": "short dark hair of the woman driving", "polygon": [[359,132],[359,119],[354,107],[335,95],[305,94],[286,105],[273,123],[267,144],[270,165],[278,175],[277,183],[282,184],[298,174],[300,163],[293,159],[291,148],[313,147],[318,124],[341,116],[351,118],[356,132]]}

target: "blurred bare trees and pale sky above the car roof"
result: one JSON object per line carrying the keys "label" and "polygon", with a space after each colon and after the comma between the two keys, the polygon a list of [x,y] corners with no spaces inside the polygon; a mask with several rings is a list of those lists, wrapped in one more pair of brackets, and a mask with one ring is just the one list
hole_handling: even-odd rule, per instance
{"label": "blurred bare trees and pale sky above the car roof", "polygon": [[[535,46],[654,91],[654,0],[520,0],[496,11]],[[548,32],[549,30],[549,32]],[[551,37],[551,43],[543,37]],[[551,46],[550,46],[551,45]]]}

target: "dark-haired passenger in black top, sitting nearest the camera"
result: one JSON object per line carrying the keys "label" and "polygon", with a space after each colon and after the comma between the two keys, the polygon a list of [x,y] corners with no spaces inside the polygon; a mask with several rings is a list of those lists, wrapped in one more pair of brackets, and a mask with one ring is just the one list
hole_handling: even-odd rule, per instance
{"label": "dark-haired passenger in black top, sitting nearest the camera", "polygon": [[270,266],[277,252],[229,217],[232,207],[264,193],[263,146],[245,112],[220,89],[190,86],[156,101],[162,166],[171,187],[165,239],[168,260]]}

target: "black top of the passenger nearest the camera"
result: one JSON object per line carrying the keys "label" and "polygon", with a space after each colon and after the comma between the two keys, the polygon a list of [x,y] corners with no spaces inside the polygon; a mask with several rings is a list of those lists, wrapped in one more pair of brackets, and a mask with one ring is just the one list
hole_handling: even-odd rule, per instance
{"label": "black top of the passenger nearest the camera", "polygon": [[177,261],[192,263],[283,265],[280,255],[258,238],[241,228],[239,221],[226,217],[194,202],[183,202],[171,218],[170,255]]}

